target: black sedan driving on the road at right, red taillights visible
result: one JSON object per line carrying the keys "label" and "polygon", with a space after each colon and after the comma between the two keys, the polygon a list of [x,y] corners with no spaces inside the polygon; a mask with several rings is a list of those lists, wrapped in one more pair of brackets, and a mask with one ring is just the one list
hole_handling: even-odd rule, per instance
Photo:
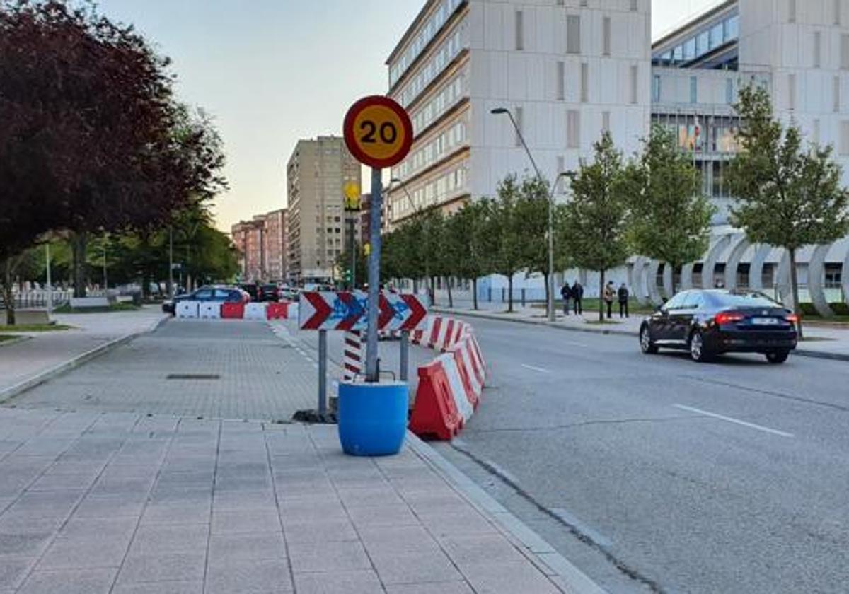
{"label": "black sedan driving on the road at right, red taillights visible", "polygon": [[643,322],[639,345],[647,354],[689,350],[694,361],[736,352],[783,363],[796,348],[796,315],[755,291],[683,291]]}

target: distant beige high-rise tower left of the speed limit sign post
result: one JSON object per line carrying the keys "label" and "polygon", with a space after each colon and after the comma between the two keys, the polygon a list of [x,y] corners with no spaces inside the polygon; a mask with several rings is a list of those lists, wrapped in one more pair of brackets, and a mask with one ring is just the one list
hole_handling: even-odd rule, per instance
{"label": "distant beige high-rise tower left of the speed limit sign post", "polygon": [[[289,272],[301,282],[328,282],[346,248],[343,188],[362,182],[361,166],[341,137],[300,140],[286,166],[289,190]],[[359,225],[355,229],[355,237]]]}

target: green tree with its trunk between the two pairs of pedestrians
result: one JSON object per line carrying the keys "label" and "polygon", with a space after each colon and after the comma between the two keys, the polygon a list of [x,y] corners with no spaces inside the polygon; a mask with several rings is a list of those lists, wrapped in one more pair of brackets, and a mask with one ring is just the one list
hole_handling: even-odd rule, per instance
{"label": "green tree with its trunk between the two pairs of pedestrians", "polygon": [[[599,271],[599,297],[605,272],[621,266],[628,257],[627,182],[622,156],[610,132],[594,145],[593,162],[584,160],[571,171],[572,201],[566,205],[563,234],[565,248],[576,266]],[[599,322],[604,321],[604,300],[599,299]]]}

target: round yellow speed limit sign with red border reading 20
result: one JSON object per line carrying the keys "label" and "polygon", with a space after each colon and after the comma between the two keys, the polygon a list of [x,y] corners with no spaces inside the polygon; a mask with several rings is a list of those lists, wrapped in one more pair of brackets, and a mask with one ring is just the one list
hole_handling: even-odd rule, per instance
{"label": "round yellow speed limit sign with red border reading 20", "polygon": [[391,98],[360,99],[345,116],[345,143],[363,165],[382,168],[400,163],[413,145],[407,111]]}

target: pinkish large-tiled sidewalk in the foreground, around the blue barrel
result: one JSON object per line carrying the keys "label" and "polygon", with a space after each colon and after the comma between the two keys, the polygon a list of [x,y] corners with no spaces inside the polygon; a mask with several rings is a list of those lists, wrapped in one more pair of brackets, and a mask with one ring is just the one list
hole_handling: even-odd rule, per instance
{"label": "pinkish large-tiled sidewalk in the foreground, around the blue barrel", "polygon": [[0,409],[0,592],[570,591],[417,449],[335,431]]}

